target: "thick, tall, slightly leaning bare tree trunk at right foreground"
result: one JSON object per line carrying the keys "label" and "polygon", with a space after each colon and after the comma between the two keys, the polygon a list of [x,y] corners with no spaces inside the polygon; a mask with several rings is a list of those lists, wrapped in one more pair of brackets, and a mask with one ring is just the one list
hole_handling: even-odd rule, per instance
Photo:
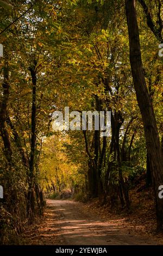
{"label": "thick, tall, slightly leaning bare tree trunk at right foreground", "polygon": [[162,153],[154,109],[149,97],[142,67],[139,27],[137,24],[135,2],[135,0],[125,1],[129,33],[130,65],[137,102],[142,115],[147,151],[149,154],[149,164],[153,178],[157,228],[158,231],[163,231],[163,200],[158,197],[158,188],[161,184],[163,184]]}

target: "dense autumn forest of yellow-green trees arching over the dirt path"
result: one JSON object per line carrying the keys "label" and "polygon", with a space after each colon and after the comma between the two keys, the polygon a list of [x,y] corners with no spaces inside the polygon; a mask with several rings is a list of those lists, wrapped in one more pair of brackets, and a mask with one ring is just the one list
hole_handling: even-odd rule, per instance
{"label": "dense autumn forest of yellow-green trees arching over the dirt path", "polygon": [[[0,1],[1,243],[43,214],[43,195],[69,190],[131,212],[142,177],[162,231],[162,5]],[[65,106],[111,111],[111,135],[54,131]]]}

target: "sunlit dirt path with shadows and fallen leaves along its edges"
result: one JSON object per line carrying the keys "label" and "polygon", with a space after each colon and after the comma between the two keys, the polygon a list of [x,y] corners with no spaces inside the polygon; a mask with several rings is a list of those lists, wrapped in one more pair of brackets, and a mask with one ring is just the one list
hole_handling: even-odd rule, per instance
{"label": "sunlit dirt path with shadows and fallen leaves along its edges", "polygon": [[71,200],[47,200],[45,222],[27,237],[30,245],[157,245],[152,236],[128,231],[124,221],[103,221]]}

